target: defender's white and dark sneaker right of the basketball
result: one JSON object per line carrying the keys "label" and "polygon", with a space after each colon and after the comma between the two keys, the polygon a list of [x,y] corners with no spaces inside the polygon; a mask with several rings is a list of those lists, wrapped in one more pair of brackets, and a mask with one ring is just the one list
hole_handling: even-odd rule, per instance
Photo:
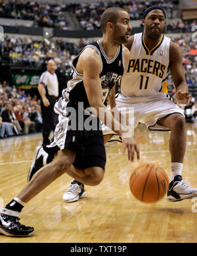
{"label": "defender's white and dark sneaker right of the basketball", "polygon": [[181,175],[175,176],[174,180],[169,183],[167,191],[167,201],[175,202],[183,199],[197,197],[197,188],[191,188],[184,184]]}

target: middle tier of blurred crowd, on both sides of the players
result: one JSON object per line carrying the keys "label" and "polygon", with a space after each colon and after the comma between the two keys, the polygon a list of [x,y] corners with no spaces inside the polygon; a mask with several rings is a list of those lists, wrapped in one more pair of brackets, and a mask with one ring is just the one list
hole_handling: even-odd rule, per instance
{"label": "middle tier of blurred crowd, on both sides of the players", "polygon": [[[190,80],[196,82],[197,73],[197,44],[191,36],[171,38],[181,47],[183,53],[183,66]],[[7,63],[17,66],[43,66],[49,59],[54,59],[56,65],[65,70],[66,74],[72,72],[72,60],[81,49],[89,43],[88,39],[81,39],[78,44],[67,43],[63,39],[51,39],[48,43],[35,41],[32,38],[8,38],[0,43],[0,58]]]}

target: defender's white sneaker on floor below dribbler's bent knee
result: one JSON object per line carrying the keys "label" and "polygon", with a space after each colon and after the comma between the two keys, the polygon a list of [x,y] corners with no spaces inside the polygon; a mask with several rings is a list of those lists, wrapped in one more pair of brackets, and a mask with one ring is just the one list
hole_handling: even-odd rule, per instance
{"label": "defender's white sneaker on floor below dribbler's bent knee", "polygon": [[63,194],[62,199],[67,203],[71,203],[85,197],[85,195],[84,185],[81,182],[77,182],[77,180],[73,180],[70,188]]}

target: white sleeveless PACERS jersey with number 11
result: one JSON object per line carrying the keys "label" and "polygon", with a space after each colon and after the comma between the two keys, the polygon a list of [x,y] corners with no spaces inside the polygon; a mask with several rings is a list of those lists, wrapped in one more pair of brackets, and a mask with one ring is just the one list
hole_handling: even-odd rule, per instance
{"label": "white sleeveless PACERS jersey with number 11", "polygon": [[162,34],[159,43],[149,51],[142,33],[134,35],[131,55],[121,78],[120,90],[125,96],[156,96],[167,93],[170,38]]}

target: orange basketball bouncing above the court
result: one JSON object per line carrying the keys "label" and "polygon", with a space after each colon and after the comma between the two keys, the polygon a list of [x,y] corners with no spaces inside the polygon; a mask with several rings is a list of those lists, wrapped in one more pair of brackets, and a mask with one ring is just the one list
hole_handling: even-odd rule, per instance
{"label": "orange basketball bouncing above the court", "polygon": [[131,193],[144,203],[156,202],[167,193],[169,180],[164,169],[154,164],[138,166],[129,180]]}

